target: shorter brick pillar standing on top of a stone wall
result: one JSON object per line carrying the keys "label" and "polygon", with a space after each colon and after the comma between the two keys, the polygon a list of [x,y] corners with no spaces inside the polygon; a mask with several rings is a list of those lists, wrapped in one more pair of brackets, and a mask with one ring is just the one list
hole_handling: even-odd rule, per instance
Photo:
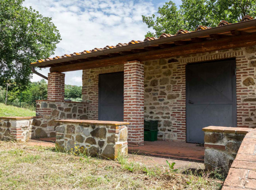
{"label": "shorter brick pillar standing on top of a stone wall", "polygon": [[48,100],[64,101],[65,74],[60,72],[48,73]]}

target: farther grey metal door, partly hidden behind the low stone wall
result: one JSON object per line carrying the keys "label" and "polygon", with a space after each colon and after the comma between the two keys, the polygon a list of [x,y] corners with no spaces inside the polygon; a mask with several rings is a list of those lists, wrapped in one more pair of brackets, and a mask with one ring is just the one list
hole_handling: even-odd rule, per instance
{"label": "farther grey metal door, partly hidden behind the low stone wall", "polygon": [[124,120],[124,72],[99,75],[99,120]]}

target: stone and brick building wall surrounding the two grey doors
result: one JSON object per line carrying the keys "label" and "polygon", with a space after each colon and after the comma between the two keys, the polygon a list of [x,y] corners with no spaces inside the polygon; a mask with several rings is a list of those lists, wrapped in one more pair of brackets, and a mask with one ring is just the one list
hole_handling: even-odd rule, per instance
{"label": "stone and brick building wall surrounding the two grey doors", "polygon": [[[235,58],[237,126],[256,127],[256,46],[144,62],[144,118],[158,120],[158,139],[186,141],[186,64]],[[98,119],[98,74],[123,65],[83,70],[88,118]]]}

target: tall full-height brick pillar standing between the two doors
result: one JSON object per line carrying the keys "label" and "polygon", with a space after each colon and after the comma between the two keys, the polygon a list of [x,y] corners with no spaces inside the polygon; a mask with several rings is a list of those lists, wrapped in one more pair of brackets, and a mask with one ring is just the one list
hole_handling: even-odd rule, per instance
{"label": "tall full-height brick pillar standing between the two doors", "polygon": [[144,145],[144,64],[124,63],[124,121],[129,122],[128,144]]}

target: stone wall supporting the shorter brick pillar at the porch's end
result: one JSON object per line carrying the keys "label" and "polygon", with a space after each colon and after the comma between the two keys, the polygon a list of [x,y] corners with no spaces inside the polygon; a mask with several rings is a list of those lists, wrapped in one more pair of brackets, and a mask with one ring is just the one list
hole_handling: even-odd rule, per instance
{"label": "stone wall supporting the shorter brick pillar at the porch's end", "polygon": [[59,119],[85,120],[88,104],[84,102],[65,102],[54,100],[36,100],[36,116],[33,120],[32,138],[54,137]]}

